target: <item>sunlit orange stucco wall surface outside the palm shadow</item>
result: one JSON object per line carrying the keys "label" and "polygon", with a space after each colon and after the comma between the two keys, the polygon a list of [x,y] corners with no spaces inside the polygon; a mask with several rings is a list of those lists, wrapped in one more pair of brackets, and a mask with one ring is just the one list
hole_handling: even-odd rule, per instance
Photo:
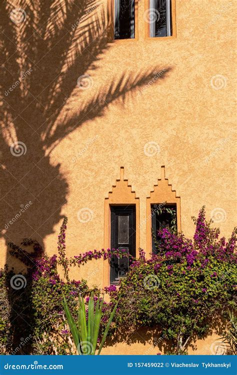
{"label": "sunlit orange stucco wall surface outside the palm shadow", "polygon": [[[191,215],[202,204],[207,218],[212,210],[220,212],[215,218],[221,234],[228,236],[234,226],[233,4],[177,0],[177,37],[170,40],[144,39],[143,6],[139,1],[138,40],[111,44],[96,63],[97,69],[88,71],[93,85],[83,96],[106,91],[124,73],[136,74],[153,66],[157,71],[170,67],[170,71],[144,90],[128,94],[124,101],[109,104],[100,117],[90,120],[88,115],[83,126],[51,154],[51,162],[60,161],[69,186],[62,212],[68,215],[71,255],[103,247],[104,198],[119,178],[120,165],[139,197],[140,222],[144,222],[141,247],[146,248],[146,196],[160,177],[161,165],[181,198],[181,229],[187,236],[194,229]],[[224,77],[221,89],[211,85],[217,74]],[[78,90],[65,108],[71,114],[78,110]],[[90,140],[92,144],[73,162]],[[147,156],[147,142],[157,143],[160,151]],[[92,213],[83,223],[77,212],[85,207]],[[47,251],[54,251],[54,233],[45,244]]]}

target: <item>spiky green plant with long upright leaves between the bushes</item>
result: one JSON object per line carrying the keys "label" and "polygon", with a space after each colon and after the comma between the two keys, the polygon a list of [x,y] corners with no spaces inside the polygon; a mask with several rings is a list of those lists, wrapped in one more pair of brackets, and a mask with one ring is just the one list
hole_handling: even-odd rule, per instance
{"label": "spiky green plant with long upright leaves between the bushes", "polygon": [[[113,316],[117,308],[118,301],[116,302],[113,310],[110,313],[97,354],[100,354],[100,351],[103,347],[109,326],[112,322]],[[98,298],[96,304],[94,305],[94,295],[93,293],[91,293],[88,301],[87,319],[83,297],[79,296],[78,302],[79,307],[77,311],[77,321],[75,322],[66,303],[66,299],[63,295],[62,305],[66,314],[66,319],[70,328],[70,333],[72,335],[78,354],[94,355],[97,346],[99,327],[102,316],[103,297],[101,298],[101,300],[100,298]]]}

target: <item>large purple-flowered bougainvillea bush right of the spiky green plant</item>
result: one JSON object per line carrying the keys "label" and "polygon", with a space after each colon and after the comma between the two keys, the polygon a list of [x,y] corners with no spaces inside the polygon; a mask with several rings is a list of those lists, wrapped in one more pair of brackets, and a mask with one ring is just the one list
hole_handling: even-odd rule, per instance
{"label": "large purple-flowered bougainvillea bush right of the spiky green plant", "polygon": [[218,239],[219,229],[205,220],[204,207],[194,219],[193,240],[166,228],[159,231],[156,254],[130,266],[119,290],[110,286],[112,298],[121,295],[117,326],[158,324],[163,346],[180,354],[191,340],[203,337],[214,323],[221,324],[226,308],[235,307],[235,233]]}

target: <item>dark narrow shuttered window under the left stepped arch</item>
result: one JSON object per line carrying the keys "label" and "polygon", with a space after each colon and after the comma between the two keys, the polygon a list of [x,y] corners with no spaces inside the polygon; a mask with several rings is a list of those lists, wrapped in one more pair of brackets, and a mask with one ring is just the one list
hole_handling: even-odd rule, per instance
{"label": "dark narrow shuttered window under the left stepped arch", "polygon": [[[125,249],[127,253],[135,256],[136,248],[136,217],[135,206],[111,206],[111,248]],[[110,260],[110,283],[116,278],[125,275],[129,267],[127,256],[117,258],[116,255]]]}

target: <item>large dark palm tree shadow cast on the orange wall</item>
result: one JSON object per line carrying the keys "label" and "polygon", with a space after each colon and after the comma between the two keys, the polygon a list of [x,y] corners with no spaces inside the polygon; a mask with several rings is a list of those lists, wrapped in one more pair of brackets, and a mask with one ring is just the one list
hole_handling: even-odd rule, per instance
{"label": "large dark palm tree shadow cast on the orange wall", "polygon": [[[116,74],[83,101],[80,93],[91,84],[86,72],[96,79],[96,62],[112,47],[106,11],[94,0],[20,0],[15,8],[6,0],[0,4],[0,14],[1,236],[5,244],[32,238],[43,249],[45,236],[62,219],[69,189],[60,172],[63,154],[55,165],[50,163],[50,152],[85,119],[101,116],[109,103],[135,93],[162,69],[124,72],[118,78]],[[155,80],[165,78],[169,70],[163,69]],[[58,120],[74,89],[76,116]],[[1,248],[4,257],[9,268],[20,269],[9,250],[5,254]]]}

